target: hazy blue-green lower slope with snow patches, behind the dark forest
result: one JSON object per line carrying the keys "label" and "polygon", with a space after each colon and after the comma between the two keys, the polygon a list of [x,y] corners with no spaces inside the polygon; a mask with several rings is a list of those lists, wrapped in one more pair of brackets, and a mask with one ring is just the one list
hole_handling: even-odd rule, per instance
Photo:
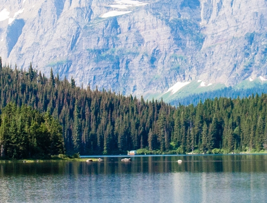
{"label": "hazy blue-green lower slope with snow patches, behind the dark forest", "polygon": [[201,81],[193,81],[187,84],[178,82],[166,92],[161,94],[147,94],[144,96],[144,99],[162,98],[172,105],[178,105],[179,103],[189,105],[199,103],[200,99],[204,101],[205,99],[215,97],[237,98],[238,96],[243,98],[256,93],[267,93],[267,80],[262,76],[255,80],[249,78],[233,87],[225,87],[223,84],[204,86]]}

